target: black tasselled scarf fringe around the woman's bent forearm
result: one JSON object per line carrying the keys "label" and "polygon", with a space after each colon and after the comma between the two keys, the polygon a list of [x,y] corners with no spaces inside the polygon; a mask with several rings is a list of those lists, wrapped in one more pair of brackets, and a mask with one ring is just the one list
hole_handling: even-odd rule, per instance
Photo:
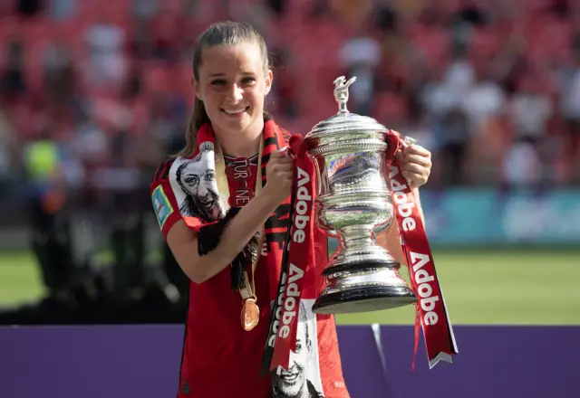
{"label": "black tasselled scarf fringe around the woman's bent forearm", "polygon": [[[204,225],[199,229],[198,232],[198,254],[199,256],[204,256],[208,254],[209,251],[213,251],[218,247],[221,241],[221,235],[224,229],[227,227],[229,222],[237,215],[240,211],[240,207],[230,208],[224,218],[218,220],[216,223],[211,223]],[[256,233],[252,239],[247,243],[242,251],[237,254],[236,258],[232,261],[230,270],[231,288],[234,290],[241,290],[246,287],[246,280],[244,278],[244,270],[248,266],[252,266],[253,261],[256,259],[257,253],[257,243],[258,243],[259,233]]]}

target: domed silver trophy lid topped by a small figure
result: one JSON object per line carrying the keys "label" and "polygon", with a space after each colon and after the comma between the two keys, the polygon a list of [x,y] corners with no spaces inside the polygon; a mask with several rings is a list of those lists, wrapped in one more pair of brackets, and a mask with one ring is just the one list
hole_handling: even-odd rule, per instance
{"label": "domed silver trophy lid topped by a small figure", "polygon": [[[348,81],[345,81],[344,76],[334,81],[334,100],[339,106],[338,113],[314,125],[314,128],[304,136],[306,141],[318,140],[319,138],[326,141],[328,139],[336,140],[338,137],[350,139],[353,137],[366,137],[369,134],[386,134],[388,128],[382,126],[374,118],[351,113],[346,108],[349,96],[348,88],[354,81],[356,81],[354,76]],[[345,133],[347,134],[345,135]]]}

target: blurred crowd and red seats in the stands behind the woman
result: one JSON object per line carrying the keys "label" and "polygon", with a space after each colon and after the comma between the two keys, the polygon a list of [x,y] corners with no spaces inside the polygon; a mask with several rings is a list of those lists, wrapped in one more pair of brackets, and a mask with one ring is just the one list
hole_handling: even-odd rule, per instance
{"label": "blurred crowd and red seats in the stands behind the woman", "polygon": [[[183,143],[191,49],[219,19],[266,37],[268,110],[307,133],[349,110],[419,139],[430,186],[580,181],[577,0],[10,0],[0,2],[0,179],[28,143],[59,144],[70,184],[151,170]],[[109,181],[111,184],[118,184]]]}

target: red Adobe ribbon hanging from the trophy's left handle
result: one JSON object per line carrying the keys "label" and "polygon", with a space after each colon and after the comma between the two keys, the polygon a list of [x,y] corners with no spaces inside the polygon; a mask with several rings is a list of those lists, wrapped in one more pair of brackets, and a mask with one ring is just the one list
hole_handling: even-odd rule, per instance
{"label": "red Adobe ribbon hanging from the trophy's left handle", "polygon": [[314,259],[314,163],[307,156],[304,137],[293,136],[288,153],[294,157],[290,220],[286,235],[280,280],[276,291],[261,374],[282,366],[288,369],[290,351],[295,351],[298,311],[308,262]]}

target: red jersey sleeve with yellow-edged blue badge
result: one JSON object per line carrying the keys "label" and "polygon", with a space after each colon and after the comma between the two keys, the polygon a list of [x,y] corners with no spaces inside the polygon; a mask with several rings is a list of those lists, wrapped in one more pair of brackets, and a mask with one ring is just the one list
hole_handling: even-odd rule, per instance
{"label": "red jersey sleeve with yellow-edged blue badge", "polygon": [[155,171],[150,184],[153,210],[163,237],[166,239],[173,224],[177,223],[181,218],[179,205],[169,182],[169,170],[172,164],[172,161],[161,164]]}

